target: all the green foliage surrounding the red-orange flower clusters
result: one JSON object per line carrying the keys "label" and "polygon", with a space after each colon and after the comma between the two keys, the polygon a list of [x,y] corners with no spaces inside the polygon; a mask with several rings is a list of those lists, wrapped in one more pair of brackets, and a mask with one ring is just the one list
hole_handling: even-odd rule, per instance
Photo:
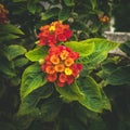
{"label": "all the green foliage surrounding the red-orange flower clusters", "polygon": [[[11,0],[0,25],[1,130],[128,130],[130,128],[130,42],[103,38],[109,24],[109,1]],[[40,26],[62,20],[73,37],[61,44],[78,52],[83,65],[70,86],[47,82],[40,60],[48,47],[37,47]],[[120,48],[126,55],[110,55]]]}

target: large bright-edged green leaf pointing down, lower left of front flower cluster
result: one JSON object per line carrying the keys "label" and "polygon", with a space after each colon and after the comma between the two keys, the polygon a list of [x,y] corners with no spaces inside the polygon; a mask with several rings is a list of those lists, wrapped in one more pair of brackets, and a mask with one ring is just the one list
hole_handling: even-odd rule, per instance
{"label": "large bright-edged green leaf pointing down, lower left of front flower cluster", "polygon": [[29,93],[46,83],[44,74],[39,64],[27,67],[22,76],[21,96],[24,100]]}

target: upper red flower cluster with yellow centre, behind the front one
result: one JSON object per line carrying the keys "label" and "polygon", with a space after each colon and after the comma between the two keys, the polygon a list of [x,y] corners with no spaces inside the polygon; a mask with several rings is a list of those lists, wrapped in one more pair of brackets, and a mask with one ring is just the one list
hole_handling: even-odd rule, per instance
{"label": "upper red flower cluster with yellow centre, behind the front one", "polygon": [[73,31],[69,25],[64,25],[61,21],[52,22],[50,25],[42,26],[38,34],[39,46],[55,46],[60,41],[66,41],[72,37]]}

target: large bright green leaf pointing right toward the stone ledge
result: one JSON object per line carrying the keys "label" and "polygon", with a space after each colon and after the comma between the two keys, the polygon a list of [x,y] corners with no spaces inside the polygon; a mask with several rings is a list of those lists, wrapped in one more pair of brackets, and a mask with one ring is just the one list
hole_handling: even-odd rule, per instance
{"label": "large bright green leaf pointing right toward the stone ledge", "polygon": [[107,57],[108,52],[119,46],[119,43],[112,42],[102,38],[91,38],[86,40],[86,43],[94,43],[93,52],[86,57],[80,57],[78,61],[81,62],[89,69],[103,62]]}

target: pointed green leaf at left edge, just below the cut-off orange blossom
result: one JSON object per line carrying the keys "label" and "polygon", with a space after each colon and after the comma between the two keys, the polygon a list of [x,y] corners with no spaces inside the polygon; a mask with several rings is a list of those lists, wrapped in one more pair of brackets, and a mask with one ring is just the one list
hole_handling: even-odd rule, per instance
{"label": "pointed green leaf at left edge, just below the cut-off orange blossom", "polygon": [[11,24],[0,25],[0,34],[24,35],[24,32],[18,27]]}

